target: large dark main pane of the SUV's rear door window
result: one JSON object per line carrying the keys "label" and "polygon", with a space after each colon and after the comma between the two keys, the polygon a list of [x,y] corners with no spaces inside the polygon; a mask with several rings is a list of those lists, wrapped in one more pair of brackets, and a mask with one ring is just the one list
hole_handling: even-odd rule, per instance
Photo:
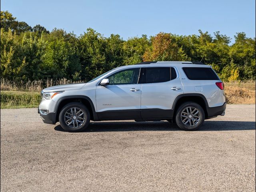
{"label": "large dark main pane of the SUV's rear door window", "polygon": [[143,68],[139,83],[160,83],[170,81],[170,67]]}

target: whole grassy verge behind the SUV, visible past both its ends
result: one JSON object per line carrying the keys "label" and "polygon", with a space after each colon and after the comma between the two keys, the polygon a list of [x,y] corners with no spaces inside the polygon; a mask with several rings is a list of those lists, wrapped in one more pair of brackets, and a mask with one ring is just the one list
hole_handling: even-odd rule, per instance
{"label": "whole grassy verge behind the SUV, visible past both its ends", "polygon": [[[4,108],[33,108],[38,107],[44,87],[69,84],[70,80],[33,81],[26,84],[1,79],[1,109]],[[78,83],[78,82],[76,82]],[[225,95],[228,104],[255,104],[255,82],[233,82],[225,84]]]}

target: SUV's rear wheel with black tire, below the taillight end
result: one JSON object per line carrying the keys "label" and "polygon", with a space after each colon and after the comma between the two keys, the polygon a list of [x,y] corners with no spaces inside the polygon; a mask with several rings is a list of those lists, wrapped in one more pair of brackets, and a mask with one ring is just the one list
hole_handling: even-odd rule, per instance
{"label": "SUV's rear wheel with black tire, below the taillight end", "polygon": [[[194,114],[192,114],[193,112]],[[175,120],[178,127],[186,131],[194,131],[204,124],[204,110],[194,102],[185,102],[177,110]]]}

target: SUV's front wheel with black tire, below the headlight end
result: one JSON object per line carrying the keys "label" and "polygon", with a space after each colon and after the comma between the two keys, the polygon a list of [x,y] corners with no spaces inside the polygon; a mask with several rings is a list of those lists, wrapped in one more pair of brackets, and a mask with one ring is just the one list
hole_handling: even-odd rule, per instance
{"label": "SUV's front wheel with black tire, below the headlight end", "polygon": [[[76,116],[74,116],[75,112]],[[70,102],[60,111],[59,121],[62,128],[68,132],[83,131],[90,124],[90,112],[84,104]]]}

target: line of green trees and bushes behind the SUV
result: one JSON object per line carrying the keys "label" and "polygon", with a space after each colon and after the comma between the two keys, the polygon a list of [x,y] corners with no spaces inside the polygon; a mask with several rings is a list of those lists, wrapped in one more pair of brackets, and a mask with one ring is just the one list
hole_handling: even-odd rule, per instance
{"label": "line of green trees and bushes behind the SUV", "polygon": [[51,32],[33,28],[1,11],[2,78],[88,81],[112,68],[142,61],[200,61],[212,65],[224,81],[255,80],[255,37],[244,32],[231,38],[199,30],[188,36],[160,32],[123,40],[118,34],[104,37],[92,28],[76,36],[63,29]]}

